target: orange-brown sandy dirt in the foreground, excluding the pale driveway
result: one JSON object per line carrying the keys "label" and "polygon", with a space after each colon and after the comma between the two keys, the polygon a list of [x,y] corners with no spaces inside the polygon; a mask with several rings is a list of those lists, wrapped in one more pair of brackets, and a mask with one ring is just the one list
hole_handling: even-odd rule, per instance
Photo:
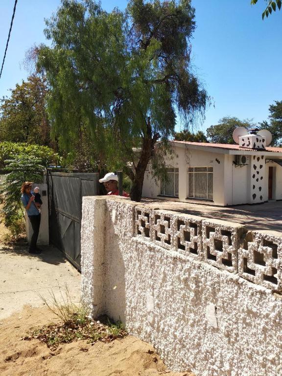
{"label": "orange-brown sandy dirt in the foreground, excluding the pale driveway", "polygon": [[151,345],[132,336],[93,346],[80,340],[53,352],[37,339],[22,340],[50,321],[50,311],[30,306],[0,321],[1,376],[194,376],[168,371]]}

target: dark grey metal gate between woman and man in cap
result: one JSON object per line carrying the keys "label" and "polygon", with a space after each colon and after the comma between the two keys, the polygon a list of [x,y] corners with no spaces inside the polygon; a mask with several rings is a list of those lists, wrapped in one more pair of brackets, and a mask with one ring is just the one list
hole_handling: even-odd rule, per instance
{"label": "dark grey metal gate between woman and man in cap", "polygon": [[80,228],[83,196],[99,192],[98,173],[45,174],[48,186],[49,241],[80,270]]}

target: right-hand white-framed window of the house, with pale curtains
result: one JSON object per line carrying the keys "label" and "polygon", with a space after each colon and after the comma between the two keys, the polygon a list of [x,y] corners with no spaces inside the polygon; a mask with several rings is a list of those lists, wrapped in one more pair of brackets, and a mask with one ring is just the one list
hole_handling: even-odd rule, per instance
{"label": "right-hand white-framed window of the house, with pale curtains", "polygon": [[212,200],[213,198],[213,168],[188,168],[188,197]]}

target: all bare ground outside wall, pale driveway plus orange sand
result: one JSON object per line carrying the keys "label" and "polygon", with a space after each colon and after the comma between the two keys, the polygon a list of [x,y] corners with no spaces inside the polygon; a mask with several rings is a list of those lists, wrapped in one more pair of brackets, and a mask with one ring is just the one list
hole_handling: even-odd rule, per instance
{"label": "all bare ground outside wall, pale driveway plus orange sand", "polygon": [[[78,341],[51,352],[37,339],[25,341],[28,330],[55,321],[38,294],[67,284],[73,302],[80,299],[80,274],[52,247],[29,255],[22,245],[0,246],[0,375],[1,376],[192,376],[170,372],[152,346],[127,336],[93,346]],[[148,352],[150,350],[150,352]]]}

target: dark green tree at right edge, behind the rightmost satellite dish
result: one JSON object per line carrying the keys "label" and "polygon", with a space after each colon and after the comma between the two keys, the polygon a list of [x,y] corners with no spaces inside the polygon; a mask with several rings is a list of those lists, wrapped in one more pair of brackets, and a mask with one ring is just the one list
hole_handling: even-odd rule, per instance
{"label": "dark green tree at right edge, behind the rightmost satellite dish", "polygon": [[267,129],[272,134],[273,146],[282,146],[282,101],[275,101],[269,106],[269,122],[259,123],[260,129]]}

